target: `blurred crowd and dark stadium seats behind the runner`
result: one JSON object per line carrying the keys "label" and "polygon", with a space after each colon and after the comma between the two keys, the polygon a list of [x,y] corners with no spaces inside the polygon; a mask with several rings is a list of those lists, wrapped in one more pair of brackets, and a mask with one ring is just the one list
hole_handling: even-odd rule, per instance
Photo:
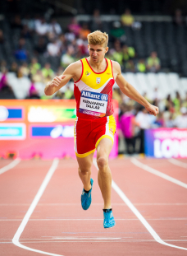
{"label": "blurred crowd and dark stadium seats behind the runner", "polygon": [[[120,106],[119,136],[125,140],[126,152],[144,152],[146,128],[187,128],[187,7],[185,1],[151,2],[4,1],[0,10],[0,99],[48,99],[43,93],[46,83],[70,63],[88,57],[87,35],[102,30],[109,35],[106,58],[120,63],[124,77],[175,72],[178,81],[183,79],[165,94],[163,83],[155,83],[151,97],[148,86],[140,91],[160,108],[157,117],[114,86],[113,98]],[[51,98],[73,99],[73,82]]]}

